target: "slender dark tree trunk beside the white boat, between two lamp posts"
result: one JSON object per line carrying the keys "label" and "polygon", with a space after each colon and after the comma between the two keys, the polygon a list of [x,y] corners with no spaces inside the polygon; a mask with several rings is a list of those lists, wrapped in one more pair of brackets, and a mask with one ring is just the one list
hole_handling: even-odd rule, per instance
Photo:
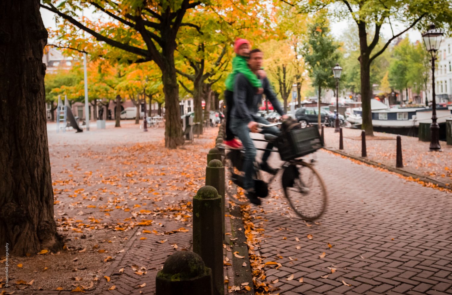
{"label": "slender dark tree trunk beside the white boat, between two lamp posts", "polygon": [[366,135],[373,136],[373,126],[372,126],[372,109],[371,109],[371,96],[372,90],[370,86],[370,56],[367,46],[367,33],[366,24],[358,24],[358,34],[359,34],[359,47],[360,47],[360,70],[361,70],[361,101],[363,112],[363,125],[361,129],[366,131]]}

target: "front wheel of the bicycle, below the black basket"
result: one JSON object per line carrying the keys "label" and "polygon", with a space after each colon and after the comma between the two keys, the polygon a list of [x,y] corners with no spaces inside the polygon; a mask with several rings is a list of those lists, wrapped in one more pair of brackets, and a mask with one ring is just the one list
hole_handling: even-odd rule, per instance
{"label": "front wheel of the bicycle, below the black basket", "polygon": [[293,211],[306,221],[319,218],[325,211],[325,184],[311,164],[297,161],[284,169],[282,188]]}

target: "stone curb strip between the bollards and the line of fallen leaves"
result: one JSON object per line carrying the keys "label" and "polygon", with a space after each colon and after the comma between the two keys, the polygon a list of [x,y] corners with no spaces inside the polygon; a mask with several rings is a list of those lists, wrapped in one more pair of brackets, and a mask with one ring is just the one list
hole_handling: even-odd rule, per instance
{"label": "stone curb strip between the bollards and the line of fallen leaves", "polygon": [[[254,295],[253,275],[250,265],[250,256],[248,255],[248,244],[246,243],[242,213],[240,212],[240,207],[238,205],[233,206],[232,208],[229,207],[228,209],[231,217],[234,217],[231,218],[231,238],[237,238],[237,240],[233,241],[228,239],[228,242],[232,246],[233,254],[237,251],[239,252],[238,255],[245,256],[244,258],[237,258],[235,255],[232,255],[232,271],[234,272],[235,286],[240,286],[241,283],[248,282],[248,286],[251,287],[251,290],[246,292],[243,292],[245,290],[241,290],[240,294]],[[242,266],[244,262],[246,263],[245,267]]]}

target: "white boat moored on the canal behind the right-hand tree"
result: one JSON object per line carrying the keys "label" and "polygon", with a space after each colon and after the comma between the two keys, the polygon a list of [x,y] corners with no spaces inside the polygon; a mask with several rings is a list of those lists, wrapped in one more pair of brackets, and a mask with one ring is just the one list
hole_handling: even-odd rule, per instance
{"label": "white boat moored on the canal behind the right-hand tree", "polygon": [[[381,101],[372,99],[371,109],[373,127],[411,128],[419,127],[419,123],[432,123],[431,108],[390,108]],[[358,127],[363,123],[362,113],[362,107],[348,109],[346,120]],[[452,106],[437,107],[436,115],[438,124],[445,123],[446,119],[452,119]]]}

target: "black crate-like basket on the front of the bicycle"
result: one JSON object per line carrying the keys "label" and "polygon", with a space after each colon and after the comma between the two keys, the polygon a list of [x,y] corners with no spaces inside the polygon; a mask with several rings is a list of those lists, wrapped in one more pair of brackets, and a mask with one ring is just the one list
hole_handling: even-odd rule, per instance
{"label": "black crate-like basket on the front of the bicycle", "polygon": [[276,141],[276,147],[282,161],[306,156],[323,146],[324,143],[317,126],[290,130]]}

